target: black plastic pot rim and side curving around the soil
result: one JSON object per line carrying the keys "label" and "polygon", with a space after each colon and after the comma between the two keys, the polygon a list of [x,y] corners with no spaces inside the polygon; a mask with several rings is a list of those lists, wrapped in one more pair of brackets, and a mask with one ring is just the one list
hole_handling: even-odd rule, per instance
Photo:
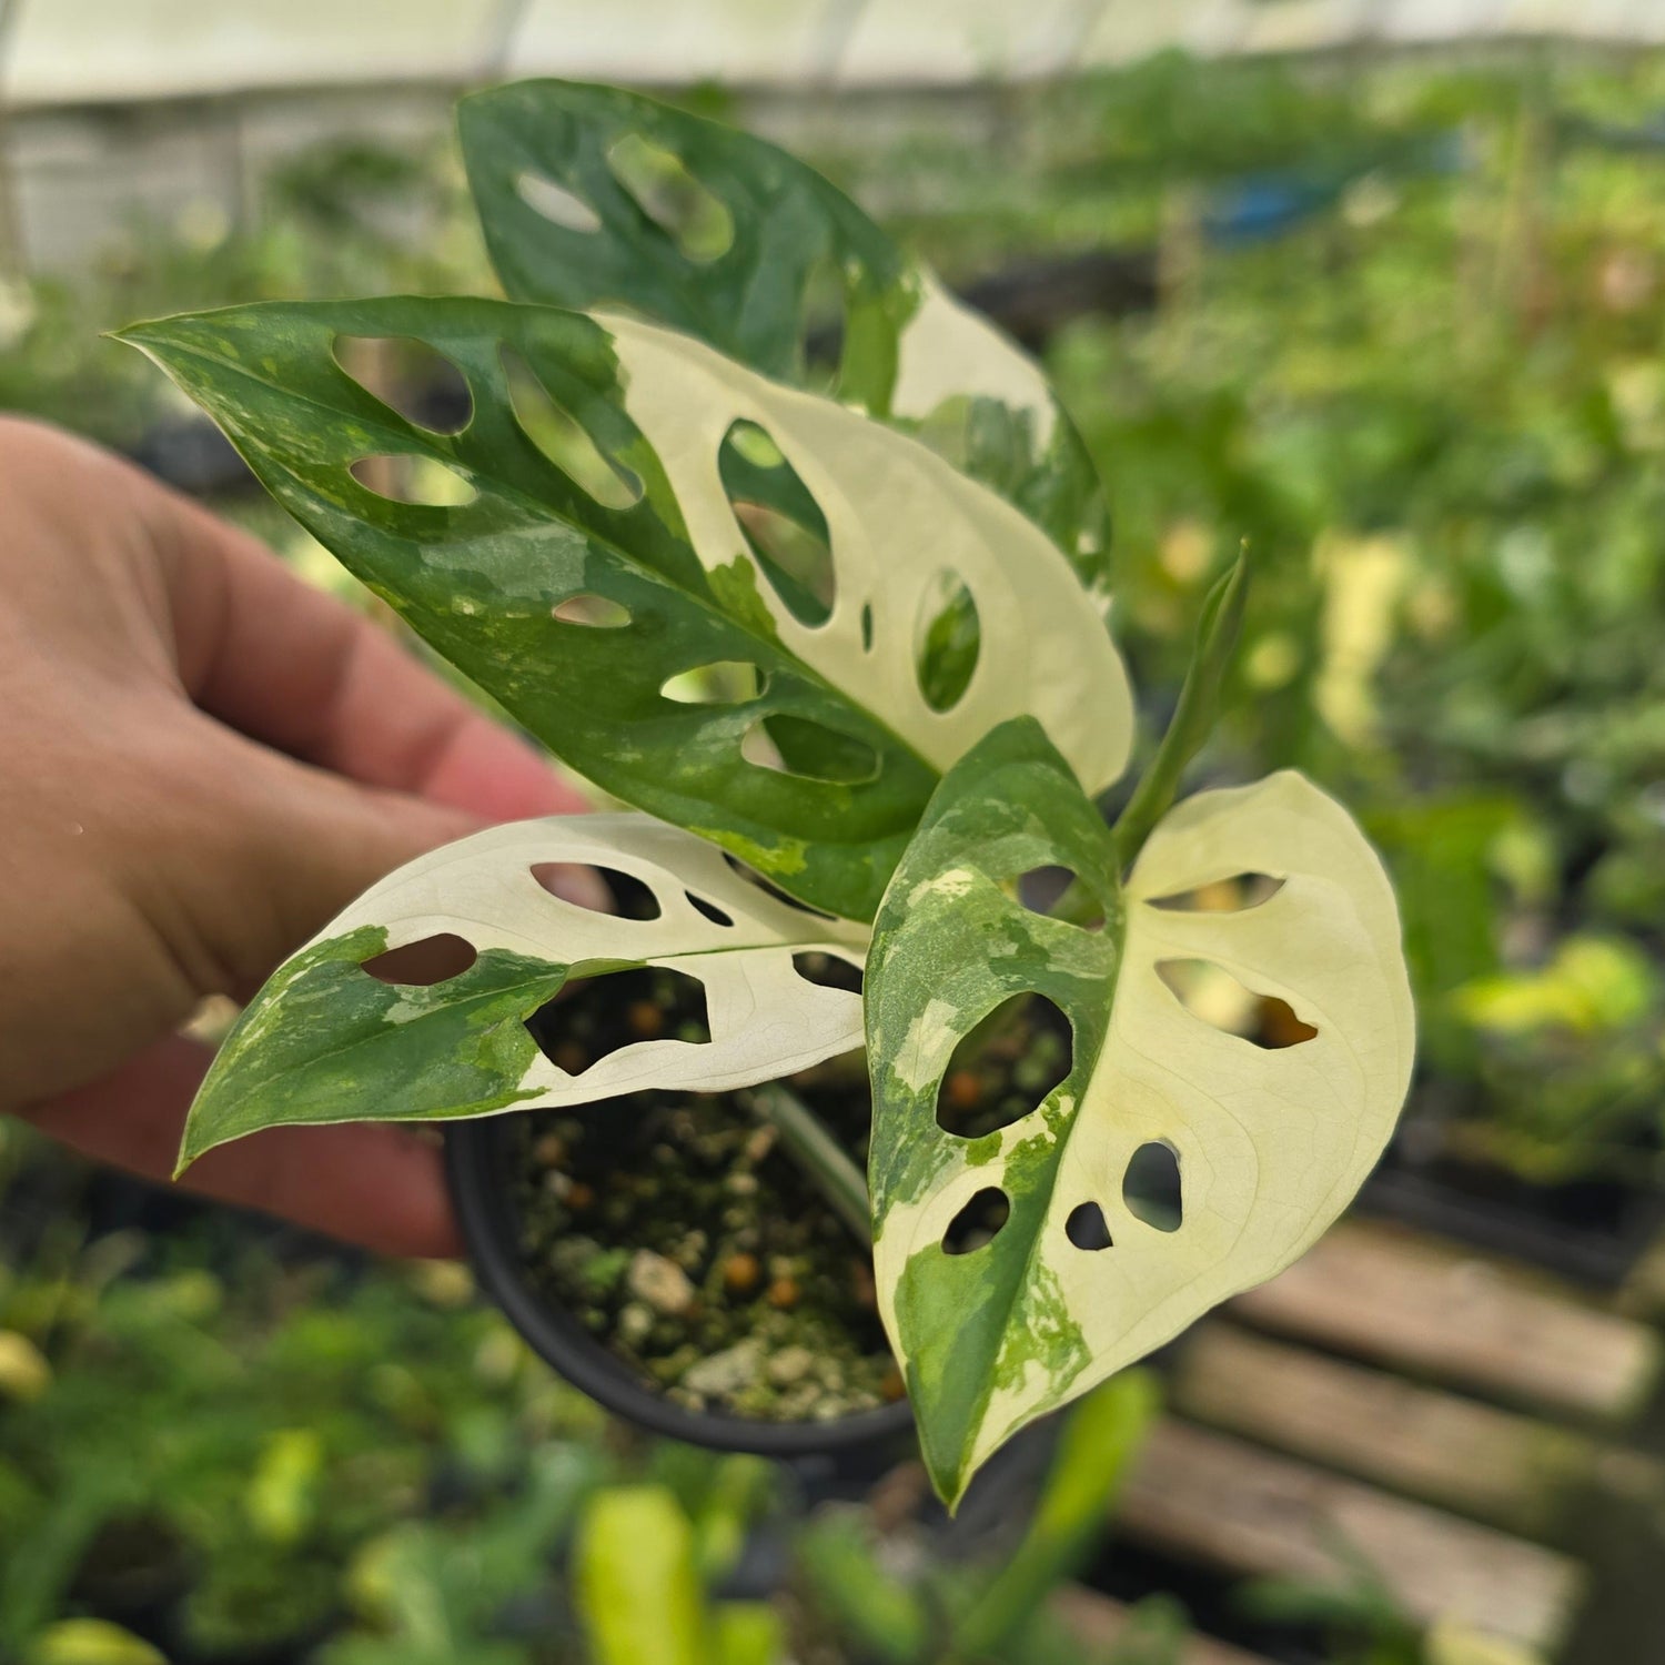
{"label": "black plastic pot rim and side curving around the soil", "polygon": [[480,1282],[531,1349],[618,1417],[691,1445],[759,1457],[816,1457],[901,1444],[912,1434],[906,1400],[834,1422],[761,1422],[688,1410],[656,1394],[578,1319],[538,1289],[519,1254],[506,1116],[450,1122],[445,1129],[451,1199]]}

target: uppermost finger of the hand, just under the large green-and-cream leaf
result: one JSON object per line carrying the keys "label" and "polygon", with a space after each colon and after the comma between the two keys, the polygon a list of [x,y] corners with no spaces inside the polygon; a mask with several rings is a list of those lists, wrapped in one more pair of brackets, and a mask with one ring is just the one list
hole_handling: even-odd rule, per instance
{"label": "uppermost finger of the hand, just under the large green-and-cream leaf", "polygon": [[180,671],[208,713],[291,758],[485,821],[586,808],[544,758],[253,538],[162,500]]}

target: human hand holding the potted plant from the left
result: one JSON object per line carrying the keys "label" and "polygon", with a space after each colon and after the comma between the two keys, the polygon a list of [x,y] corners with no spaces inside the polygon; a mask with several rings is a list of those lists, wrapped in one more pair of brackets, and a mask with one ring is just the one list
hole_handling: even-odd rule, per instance
{"label": "human hand holding the potted plant from the left", "polygon": [[[353,896],[488,821],[584,804],[255,539],[68,435],[0,418],[0,1111],[152,1177],[208,1051]],[[195,1190],[390,1254],[456,1247],[438,1152],[273,1129]]]}

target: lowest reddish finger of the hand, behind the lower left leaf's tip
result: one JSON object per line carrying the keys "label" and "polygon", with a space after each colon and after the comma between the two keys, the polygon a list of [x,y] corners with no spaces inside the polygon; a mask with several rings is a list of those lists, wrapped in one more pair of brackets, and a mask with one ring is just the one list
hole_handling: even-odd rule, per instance
{"label": "lowest reddish finger of the hand, behind the lower left leaf's tip", "polygon": [[[210,1056],[171,1037],[30,1121],[100,1162],[165,1180]],[[211,1151],[180,1184],[376,1254],[460,1252],[440,1152],[401,1127],[273,1127]]]}

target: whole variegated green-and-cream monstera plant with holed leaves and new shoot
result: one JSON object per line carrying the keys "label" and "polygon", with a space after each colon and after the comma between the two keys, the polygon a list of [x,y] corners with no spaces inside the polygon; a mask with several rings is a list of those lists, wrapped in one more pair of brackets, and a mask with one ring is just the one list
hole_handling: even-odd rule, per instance
{"label": "whole variegated green-and-cream monstera plant with holed leaves and new shoot", "polygon": [[[1299,776],[1162,816],[1240,574],[1106,828],[1132,703],[1082,443],[1029,360],[819,175],[556,82],[466,100],[461,137],[511,300],[253,305],[127,340],[420,636],[638,813],[481,832],[375,886],[243,1014],[181,1162],[278,1122],[741,1087],[866,1039],[881,1305],[954,1502],[1014,1430],[1287,1265],[1352,1197],[1410,1069],[1392,892]],[[345,368],[355,338],[441,355],[466,420],[400,415]],[[646,886],[653,917],[551,894],[539,872],[568,862]],[[1056,916],[1019,899],[1046,867],[1074,874]],[[1257,889],[1224,884],[1244,874]],[[1210,887],[1240,906],[1187,906]],[[440,934],[473,951],[448,981],[363,969]],[[864,994],[811,981],[809,951],[866,964]],[[1197,1016],[1172,974],[1199,962],[1282,1001],[1302,1042]],[[641,966],[699,979],[708,1042],[579,1074],[544,1056],[526,1021],[566,982]],[[956,1046],[1021,994],[1067,1019],[1067,1077],[1009,1126],[947,1131]],[[1127,1190],[1152,1147],[1177,1162],[1177,1215]],[[984,1192],[1004,1225],[949,1254]]]}

